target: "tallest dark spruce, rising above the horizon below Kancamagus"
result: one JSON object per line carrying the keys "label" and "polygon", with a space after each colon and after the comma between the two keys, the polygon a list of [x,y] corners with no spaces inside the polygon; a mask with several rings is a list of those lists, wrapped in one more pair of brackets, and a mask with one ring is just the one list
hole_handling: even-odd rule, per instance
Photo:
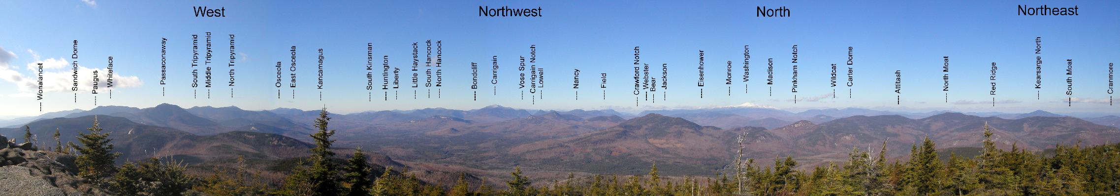
{"label": "tallest dark spruce, rising above the horizon below Kancamagus", "polygon": [[314,190],[311,195],[339,195],[336,182],[337,166],[330,163],[330,157],[335,156],[335,153],[330,151],[330,145],[335,143],[330,136],[335,135],[335,130],[327,128],[327,121],[330,120],[327,114],[326,107],[319,110],[319,118],[315,119],[315,128],[318,131],[311,135],[311,139],[315,140],[315,148],[311,148],[311,167],[308,169],[310,175],[308,183]]}

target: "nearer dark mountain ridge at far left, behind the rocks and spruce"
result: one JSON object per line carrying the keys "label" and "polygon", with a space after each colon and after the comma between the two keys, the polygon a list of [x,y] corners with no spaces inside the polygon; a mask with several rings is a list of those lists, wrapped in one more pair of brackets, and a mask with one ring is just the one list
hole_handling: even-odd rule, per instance
{"label": "nearer dark mountain ridge at far left, behind the rocks and spruce", "polygon": [[[139,160],[147,157],[175,156],[179,159],[204,163],[217,158],[234,158],[244,155],[248,158],[279,159],[307,155],[311,145],[274,134],[226,131],[216,135],[199,136],[174,128],[142,125],[123,117],[108,115],[81,116],[74,118],[53,118],[38,120],[27,126],[37,136],[39,146],[54,147],[49,136],[59,131],[63,144],[77,144],[78,133],[88,133],[86,128],[93,125],[94,118],[103,131],[111,133],[115,151],[122,153],[118,161]],[[24,128],[2,128],[0,134],[21,136]]]}

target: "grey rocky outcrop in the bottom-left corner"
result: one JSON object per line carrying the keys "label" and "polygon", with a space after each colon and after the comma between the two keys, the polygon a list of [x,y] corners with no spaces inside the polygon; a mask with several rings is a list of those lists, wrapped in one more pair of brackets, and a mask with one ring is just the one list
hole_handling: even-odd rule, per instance
{"label": "grey rocky outcrop in the bottom-left corner", "polygon": [[108,195],[77,177],[73,155],[28,146],[0,149],[0,195]]}

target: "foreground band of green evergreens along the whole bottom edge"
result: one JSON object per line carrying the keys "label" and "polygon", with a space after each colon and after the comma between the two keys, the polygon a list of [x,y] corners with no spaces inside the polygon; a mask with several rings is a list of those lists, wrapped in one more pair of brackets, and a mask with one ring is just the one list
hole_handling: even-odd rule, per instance
{"label": "foreground band of green evergreens along the whole bottom edge", "polygon": [[[96,119],[80,144],[56,145],[38,150],[28,129],[25,143],[4,143],[3,167],[30,167],[27,157],[52,157],[65,163],[77,176],[75,187],[87,195],[1118,195],[1120,194],[1120,144],[1082,147],[1056,145],[1053,153],[1027,151],[1012,145],[996,148],[984,127],[983,148],[976,157],[940,157],[934,141],[914,144],[909,156],[888,159],[886,143],[876,150],[853,148],[843,163],[828,163],[811,170],[796,170],[794,157],[775,158],[773,165],[743,156],[732,157],[726,169],[712,176],[661,176],[654,164],[647,175],[569,174],[564,179],[531,182],[521,167],[513,168],[502,185],[469,180],[461,174],[454,184],[421,182],[408,168],[374,170],[366,155],[335,155],[334,130],[327,128],[326,109],[315,120],[310,135],[315,148],[282,184],[269,185],[260,174],[245,169],[243,158],[234,168],[214,168],[208,176],[192,176],[170,157],[114,165],[110,133]],[[979,130],[978,130],[979,131]],[[10,148],[9,148],[10,147]],[[347,157],[345,163],[332,161]],[[65,164],[63,164],[65,165]],[[0,167],[0,168],[3,168]],[[50,173],[50,171],[46,171]],[[66,169],[55,171],[68,174]],[[59,185],[55,185],[59,186]],[[450,187],[450,188],[444,188]],[[68,189],[71,190],[71,189]],[[3,194],[0,194],[3,195]]]}

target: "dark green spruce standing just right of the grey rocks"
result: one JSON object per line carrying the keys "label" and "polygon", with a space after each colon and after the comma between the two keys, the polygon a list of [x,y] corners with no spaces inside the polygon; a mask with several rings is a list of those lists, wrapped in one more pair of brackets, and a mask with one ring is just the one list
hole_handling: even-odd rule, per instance
{"label": "dark green spruce standing just right of the grey rocks", "polygon": [[115,171],[113,159],[121,156],[121,153],[110,153],[113,150],[113,139],[109,138],[109,133],[101,133],[101,125],[97,117],[93,117],[93,127],[87,128],[90,134],[78,133],[77,140],[82,146],[71,144],[78,154],[74,163],[78,167],[78,176],[90,180],[101,180]]}

